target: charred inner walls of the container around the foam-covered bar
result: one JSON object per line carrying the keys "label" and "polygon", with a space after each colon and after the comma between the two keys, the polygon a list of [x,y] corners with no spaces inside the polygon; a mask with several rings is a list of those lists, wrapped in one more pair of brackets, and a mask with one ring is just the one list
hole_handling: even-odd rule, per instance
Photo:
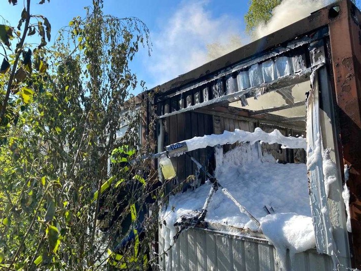
{"label": "charred inner walls of the container around the foam-covered bar", "polygon": [[[210,134],[222,134],[224,131],[233,132],[235,129],[240,129],[248,132],[253,132],[256,127],[260,127],[266,132],[272,132],[278,129],[283,135],[305,135],[305,131],[296,127],[284,128],[277,125],[270,125],[258,122],[256,119],[249,121],[237,119],[237,116],[220,116],[213,114],[214,112],[208,110],[208,113],[198,112],[184,112],[169,116],[163,119],[164,123],[164,146],[173,144],[179,141],[193,138],[195,136],[204,136]],[[223,145],[223,153],[234,148],[237,143]],[[280,144],[261,144],[262,152],[273,155],[279,163],[305,163],[306,154],[304,150],[282,149]],[[211,174],[215,169],[214,161],[214,147],[207,147],[204,149],[193,150],[189,153],[197,161],[199,161]],[[191,161],[187,155],[171,158],[172,164],[176,169],[176,178],[169,187],[169,191],[177,187],[179,183],[183,182],[189,175],[196,173],[196,165]],[[201,174],[202,182],[205,181]],[[184,189],[180,187],[177,191]]]}

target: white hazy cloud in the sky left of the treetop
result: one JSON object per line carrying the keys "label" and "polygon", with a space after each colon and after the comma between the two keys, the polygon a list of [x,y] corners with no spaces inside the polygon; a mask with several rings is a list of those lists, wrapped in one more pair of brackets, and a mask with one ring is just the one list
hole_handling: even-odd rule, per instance
{"label": "white hazy cloud in the sky left of the treetop", "polygon": [[[207,4],[208,1],[183,2],[163,23],[161,31],[152,33],[152,56],[144,64],[153,78],[148,86],[169,81],[208,62],[210,57],[220,56],[240,45],[234,42],[234,37],[241,33],[242,16],[216,17],[207,10]],[[212,50],[208,54],[209,44],[213,45],[208,46]]]}

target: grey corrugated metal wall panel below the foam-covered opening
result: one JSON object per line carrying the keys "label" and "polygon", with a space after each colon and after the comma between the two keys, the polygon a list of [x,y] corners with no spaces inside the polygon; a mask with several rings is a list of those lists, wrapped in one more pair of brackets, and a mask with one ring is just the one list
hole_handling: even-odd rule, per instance
{"label": "grey corrugated metal wall panel below the foam-covered opening", "polygon": [[[160,238],[160,248],[164,239]],[[160,267],[167,271],[280,270],[275,261],[276,250],[266,240],[224,235],[203,229],[185,231],[162,256]],[[327,271],[333,269],[332,259],[315,250],[298,253],[292,264],[294,271]],[[288,256],[287,270],[291,269]]]}

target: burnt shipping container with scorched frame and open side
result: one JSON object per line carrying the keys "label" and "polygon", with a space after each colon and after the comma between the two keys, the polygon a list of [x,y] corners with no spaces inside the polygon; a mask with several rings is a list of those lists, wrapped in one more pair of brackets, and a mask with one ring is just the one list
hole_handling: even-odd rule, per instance
{"label": "burnt shipping container with scorched frame and open side", "polygon": [[[148,93],[152,99],[142,133],[147,134],[155,114],[158,152],[195,136],[278,129],[286,136],[305,135],[307,153],[264,143],[260,152],[279,163],[307,163],[320,137],[336,163],[336,182],[327,195],[322,162],[308,167],[316,248],[296,254],[293,264],[288,255],[286,269],[361,269],[361,13],[351,1],[320,9]],[[226,154],[236,145],[206,147],[190,155],[213,173],[217,152]],[[167,184],[169,191],[196,172],[186,155],[173,157],[172,163],[177,177]],[[342,198],[345,183],[351,232]],[[280,268],[275,248],[259,232],[218,223],[197,225],[184,231],[166,254],[162,232],[158,253],[166,270]]]}

